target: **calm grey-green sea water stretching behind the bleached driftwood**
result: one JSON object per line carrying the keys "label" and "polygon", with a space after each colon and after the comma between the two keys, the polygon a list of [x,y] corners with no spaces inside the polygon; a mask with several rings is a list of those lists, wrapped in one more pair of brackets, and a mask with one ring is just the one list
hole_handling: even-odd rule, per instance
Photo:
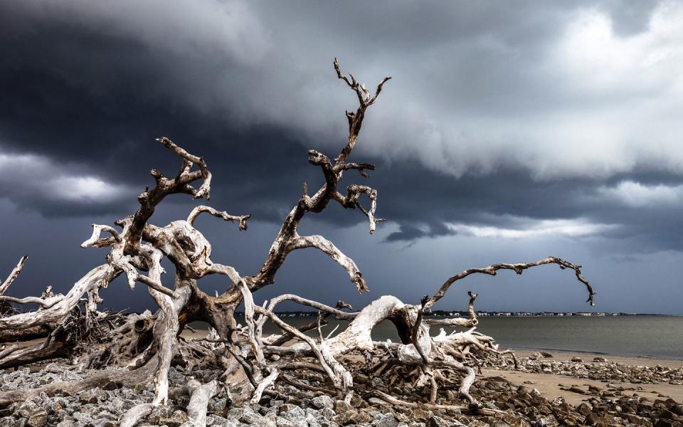
{"label": "calm grey-green sea water stretching behind the bleached driftwood", "polygon": [[[282,320],[301,326],[314,317],[285,317]],[[240,321],[244,323],[243,319],[238,319]],[[504,348],[683,359],[682,316],[480,317],[479,321],[477,331],[494,337]],[[337,333],[347,325],[347,322],[330,320],[323,328],[323,334],[332,331],[338,323]],[[450,330],[447,328],[446,332]],[[267,324],[263,332],[278,331],[274,325]],[[438,334],[439,328],[433,327],[432,332]],[[391,322],[377,325],[373,339],[399,341]]]}

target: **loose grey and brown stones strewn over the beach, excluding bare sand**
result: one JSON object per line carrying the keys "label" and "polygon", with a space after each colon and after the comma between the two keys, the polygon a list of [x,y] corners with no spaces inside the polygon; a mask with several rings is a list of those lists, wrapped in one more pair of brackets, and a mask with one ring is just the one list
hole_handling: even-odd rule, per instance
{"label": "loose grey and brown stones strewn over the beach, excluding bare sand", "polygon": [[[652,384],[657,381],[670,384],[683,381],[682,369],[657,367],[632,367],[609,362],[606,359],[592,362],[558,361],[545,354],[535,358],[521,358],[520,365],[526,371],[567,372],[578,378],[603,379],[604,387],[567,386],[580,390],[586,401],[571,406],[564,399],[549,401],[538,389],[515,386],[500,377],[478,379],[472,386],[472,394],[479,399],[483,408],[495,408],[504,413],[491,416],[472,416],[467,412],[429,410],[426,408],[406,408],[387,405],[381,399],[371,398],[361,401],[359,392],[351,404],[320,392],[299,390],[294,386],[278,384],[280,399],[263,399],[260,405],[231,408],[223,413],[225,396],[209,402],[207,426],[216,427],[340,427],[356,425],[359,427],[443,427],[443,426],[683,426],[683,405],[665,397],[647,400],[639,396],[629,396],[637,386],[615,385],[618,381]],[[502,367],[502,365],[500,366]],[[61,380],[62,377],[81,379],[88,371],[60,370],[31,373],[28,369],[19,371],[0,371],[0,384],[3,390],[38,386],[41,382]],[[189,376],[210,379],[215,371],[194,370],[186,373],[182,369],[171,369],[169,378],[175,384],[187,381]],[[324,386],[322,376],[305,376],[299,381],[311,385]],[[529,381],[530,382],[530,381]],[[576,381],[578,383],[578,381]],[[532,383],[531,383],[532,384]],[[581,383],[578,383],[581,384]],[[415,400],[415,394],[423,393],[421,398],[428,399],[428,387],[387,386],[381,379],[374,378],[368,386],[378,389],[391,389],[397,399]],[[401,394],[404,394],[403,396]],[[656,395],[655,395],[656,396]],[[137,389],[117,388],[107,385],[102,389],[80,392],[75,396],[46,395],[30,401],[14,404],[0,412],[0,427],[114,427],[121,416],[132,406],[152,399],[151,386]],[[283,399],[286,399],[283,400]],[[441,404],[464,405],[457,396],[457,389],[441,389]],[[168,406],[159,406],[143,419],[138,426],[191,427],[184,409],[187,399],[170,401]],[[223,416],[225,415],[225,416]]]}

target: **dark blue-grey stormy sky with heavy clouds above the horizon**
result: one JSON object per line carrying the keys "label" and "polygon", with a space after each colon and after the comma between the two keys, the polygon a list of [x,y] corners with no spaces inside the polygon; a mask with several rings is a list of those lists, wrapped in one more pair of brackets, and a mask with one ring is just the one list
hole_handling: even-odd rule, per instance
{"label": "dark blue-grey stormy sky with heavy clouds above the horizon", "polygon": [[[78,245],[134,212],[150,168],[176,172],[162,135],[206,158],[212,206],[252,214],[244,232],[196,226],[215,262],[255,273],[302,183],[323,181],[307,149],[344,145],[357,100],[337,56],[368,85],[393,77],[351,157],[377,170],[344,176],[378,190],[388,221],[370,236],[331,204],[302,233],[354,258],[371,292],[305,250],[257,300],[418,302],[465,268],[554,255],[583,265],[594,308],[546,266],[471,277],[435,309],[474,290],[480,310],[683,315],[682,21],[674,1],[0,2],[0,275],[28,253],[9,293],[67,292],[102,263]],[[152,223],[194,204],[169,197]],[[102,297],[154,307],[123,280]]]}

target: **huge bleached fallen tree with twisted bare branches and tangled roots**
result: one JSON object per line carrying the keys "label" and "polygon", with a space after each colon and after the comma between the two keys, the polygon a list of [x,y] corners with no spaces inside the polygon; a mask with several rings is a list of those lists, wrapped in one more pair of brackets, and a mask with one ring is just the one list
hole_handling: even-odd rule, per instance
{"label": "huge bleached fallen tree with twisted bare branches and tangled roots", "polygon": [[[467,411],[492,411],[482,408],[470,394],[475,381],[475,368],[489,357],[514,354],[502,351],[487,337],[476,331],[477,294],[468,292],[469,317],[430,318],[425,313],[445,295],[450,286],[467,276],[481,273],[495,275],[498,270],[513,270],[521,274],[527,268],[555,264],[561,269],[573,270],[576,278],[586,286],[588,301],[593,304],[593,289],[581,276],[581,266],[560,258],[549,257],[534,263],[494,264],[485,268],[471,268],[449,278],[438,292],[425,296],[418,304],[401,302],[391,295],[379,297],[359,311],[339,301],[335,307],[307,300],[297,295],[280,295],[263,305],[255,303],[253,292],[275,283],[277,270],[287,255],[303,248],[314,248],[329,255],[349,274],[351,283],[359,292],[369,287],[354,260],[339,251],[334,243],[323,236],[300,236],[299,225],[307,214],[323,211],[330,203],[346,209],[355,209],[366,216],[369,232],[374,233],[376,223],[377,191],[370,186],[353,184],[345,191],[339,182],[347,171],[356,171],[367,177],[373,164],[350,162],[349,156],[359,137],[366,110],[374,105],[383,85],[383,78],[371,92],[356,81],[353,75],[344,75],[334,60],[337,78],[342,80],[358,100],[354,111],[347,111],[349,135],[336,158],[330,159],[321,152],[309,150],[308,162],[322,170],[324,184],[309,195],[304,184],[302,196],[287,214],[280,231],[272,242],[260,270],[253,275],[242,275],[235,268],[211,260],[211,244],[194,226],[200,214],[210,214],[224,221],[238,224],[246,230],[250,216],[231,215],[210,206],[196,206],[184,220],[166,226],[150,223],[156,207],[170,194],[189,194],[194,199],[208,200],[211,195],[211,172],[202,157],[187,152],[166,137],[158,141],[179,157],[181,167],[173,176],[165,176],[152,169],[154,186],[138,196],[139,209],[126,218],[114,221],[114,226],[93,224],[92,236],[81,245],[83,248],[106,248],[106,262],[83,276],[65,294],[46,289],[40,297],[14,298],[6,294],[21,273],[26,257],[21,258],[9,278],[0,285],[0,369],[36,364],[50,359],[66,359],[83,368],[102,369],[88,379],[53,383],[38,389],[0,391],[0,406],[23,401],[41,393],[48,395],[67,391],[78,392],[109,382],[116,384],[154,384],[154,398],[146,404],[130,408],[120,420],[122,426],[133,426],[152,412],[155,406],[165,405],[176,396],[191,396],[188,413],[199,425],[206,423],[206,406],[216,395],[228,396],[233,405],[245,401],[257,403],[265,395],[276,394],[273,385],[278,381],[312,387],[298,382],[293,371],[322,374],[316,391],[333,394],[338,399],[381,399],[391,404],[406,406],[424,405],[433,408],[462,408]],[[198,183],[198,187],[196,186]],[[361,198],[369,204],[361,203]],[[365,202],[367,203],[367,202]],[[367,206],[367,207],[366,207]],[[164,285],[162,259],[174,265],[174,283]],[[226,276],[226,290],[211,296],[203,292],[198,282],[206,275]],[[134,288],[146,285],[158,305],[156,312],[126,314],[102,312],[99,290],[119,275],[125,275],[127,284]],[[280,302],[293,301],[318,310],[319,317],[303,327],[293,327],[277,317],[275,309]],[[235,310],[244,302],[245,326],[238,325]],[[19,312],[16,305],[36,305],[33,311]],[[346,329],[334,335],[322,333],[325,320],[333,317],[349,322]],[[371,337],[373,328],[385,320],[396,326],[401,342],[376,342]],[[189,322],[203,321],[211,326],[203,339],[185,339],[181,332]],[[264,336],[265,322],[280,328],[280,334]],[[465,330],[447,334],[430,334],[432,327],[462,327]],[[311,337],[305,332],[316,331]],[[22,344],[43,338],[42,342]],[[516,363],[516,361],[515,361]],[[191,381],[189,384],[169,384],[172,364],[192,367],[211,366],[220,374],[206,384]],[[412,401],[398,399],[382,391],[371,389],[369,379],[389,382],[411,382],[417,389],[428,390],[428,399]],[[361,383],[361,384],[359,384]],[[457,390],[466,406],[460,402],[438,403],[442,387],[457,384]]]}

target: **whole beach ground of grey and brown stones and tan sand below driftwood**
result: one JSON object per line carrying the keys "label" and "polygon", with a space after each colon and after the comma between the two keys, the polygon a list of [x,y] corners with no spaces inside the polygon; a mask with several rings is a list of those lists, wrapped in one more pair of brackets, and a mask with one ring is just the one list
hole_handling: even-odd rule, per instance
{"label": "whole beach ground of grey and brown stones and tan sand below driftwood", "polygon": [[[394,379],[364,378],[364,399],[351,404],[327,394],[322,374],[292,371],[284,384],[265,394],[259,404],[231,406],[226,397],[208,405],[208,426],[272,427],[442,427],[442,426],[682,426],[683,362],[677,360],[603,357],[590,354],[517,352],[512,360],[499,359],[482,367],[472,386],[481,402],[478,409],[462,406],[457,387],[445,390],[436,406],[402,406],[382,399],[422,394],[428,390]],[[66,364],[51,363],[0,374],[0,391],[36,388],[58,381],[74,381],[92,374]],[[173,367],[171,384],[191,379],[208,382],[220,371],[185,371]],[[177,391],[177,389],[176,389]],[[1,427],[114,427],[137,404],[152,400],[153,386],[126,388],[102,384],[78,394],[41,394],[0,410]],[[171,401],[137,423],[137,426],[190,427],[188,396]],[[439,406],[442,406],[441,408]]]}

